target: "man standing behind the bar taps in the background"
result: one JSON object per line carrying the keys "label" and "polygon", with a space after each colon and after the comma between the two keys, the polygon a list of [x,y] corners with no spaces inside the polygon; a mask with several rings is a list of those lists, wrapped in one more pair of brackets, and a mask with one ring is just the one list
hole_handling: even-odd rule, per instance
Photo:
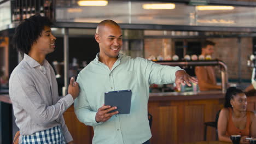
{"label": "man standing behind the bar taps in the background", "polygon": [[[214,45],[212,41],[206,40],[202,43],[202,54],[203,56],[212,56],[214,52]],[[198,79],[198,85],[200,91],[210,91],[222,89],[221,86],[217,85],[216,76],[214,73],[213,66],[198,66],[195,67],[195,74]]]}

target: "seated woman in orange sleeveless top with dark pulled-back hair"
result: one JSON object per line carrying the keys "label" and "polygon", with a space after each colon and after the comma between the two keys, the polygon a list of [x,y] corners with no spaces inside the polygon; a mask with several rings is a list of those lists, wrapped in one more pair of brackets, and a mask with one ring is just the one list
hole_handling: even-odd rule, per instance
{"label": "seated woman in orange sleeveless top with dark pulled-back hair", "polygon": [[236,87],[226,91],[224,108],[219,113],[218,136],[220,141],[231,142],[231,135],[241,135],[240,143],[249,143],[246,137],[256,137],[255,116],[247,111],[247,98]]}

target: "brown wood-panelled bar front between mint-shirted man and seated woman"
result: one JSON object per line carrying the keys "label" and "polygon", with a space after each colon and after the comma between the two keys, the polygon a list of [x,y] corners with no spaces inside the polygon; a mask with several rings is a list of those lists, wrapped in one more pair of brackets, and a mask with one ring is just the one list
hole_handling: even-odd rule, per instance
{"label": "brown wood-panelled bar front between mint-shirted man and seated woman", "polygon": [[[203,141],[204,123],[215,121],[221,108],[218,99],[150,101],[148,111],[153,116],[151,141],[162,144]],[[214,140],[215,135],[215,129],[208,128],[207,140]]]}

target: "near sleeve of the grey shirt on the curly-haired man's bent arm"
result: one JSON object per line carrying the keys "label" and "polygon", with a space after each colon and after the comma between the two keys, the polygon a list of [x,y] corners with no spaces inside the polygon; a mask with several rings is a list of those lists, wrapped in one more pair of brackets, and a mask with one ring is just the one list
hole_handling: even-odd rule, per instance
{"label": "near sleeve of the grey shirt on the curly-haired man's bent arm", "polygon": [[48,106],[38,93],[33,79],[29,75],[15,74],[11,81],[11,93],[16,94],[12,100],[16,101],[39,125],[47,125],[59,118],[74,101],[72,95],[68,94],[56,104]]}

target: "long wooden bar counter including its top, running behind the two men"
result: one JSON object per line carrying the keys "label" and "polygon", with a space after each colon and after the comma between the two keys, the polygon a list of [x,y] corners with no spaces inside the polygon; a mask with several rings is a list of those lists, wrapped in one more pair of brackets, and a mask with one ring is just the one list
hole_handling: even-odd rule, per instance
{"label": "long wooden bar counter including its top, running behind the two men", "polygon": [[[246,95],[247,109],[254,111],[256,93]],[[0,100],[11,102],[8,94],[0,94]],[[148,112],[153,116],[150,141],[166,144],[203,141],[204,123],[215,121],[216,113],[223,104],[222,91],[150,93]],[[63,115],[75,143],[91,143],[93,129],[78,121],[73,105]],[[215,128],[207,128],[206,140],[216,140]]]}

